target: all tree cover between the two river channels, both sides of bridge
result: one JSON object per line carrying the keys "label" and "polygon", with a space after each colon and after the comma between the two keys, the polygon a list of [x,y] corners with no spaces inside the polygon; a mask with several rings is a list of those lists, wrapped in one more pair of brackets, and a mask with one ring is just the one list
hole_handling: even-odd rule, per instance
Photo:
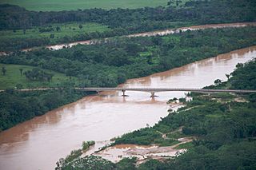
{"label": "all tree cover between the two river channels, both sides of bridge", "polygon": [[[4,65],[30,65],[54,71],[56,75],[62,73],[63,76],[71,77],[68,80],[56,80],[53,76],[51,81],[54,83],[28,79],[30,87],[66,87],[66,93],[54,92],[57,93],[55,95],[51,91],[25,93],[13,90],[0,93],[3,100],[0,106],[0,122],[3,122],[1,129],[10,128],[86,94],[74,90],[74,86],[114,87],[126,79],[144,77],[214,57],[219,53],[255,45],[255,34],[255,27],[197,30],[163,37],[117,38],[104,44],[77,45],[56,51],[39,49],[0,57],[0,63]],[[16,70],[16,75],[20,77],[20,71]],[[8,83],[11,79],[8,81],[7,78],[10,72],[6,66],[5,75],[2,75],[6,77],[6,85],[10,85],[6,88],[13,88],[13,85]],[[29,85],[26,82],[22,84],[24,87]],[[38,99],[34,99],[35,96]],[[30,101],[36,102],[35,105],[28,105]],[[23,102],[25,105],[22,105]]]}

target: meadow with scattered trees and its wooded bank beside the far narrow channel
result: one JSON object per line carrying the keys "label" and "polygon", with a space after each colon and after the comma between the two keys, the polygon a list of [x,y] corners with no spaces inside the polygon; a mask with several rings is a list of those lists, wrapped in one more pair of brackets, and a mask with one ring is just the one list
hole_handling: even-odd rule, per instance
{"label": "meadow with scattered trees and its wooded bank beside the far narrow channel", "polygon": [[[10,45],[10,50],[18,45],[18,49],[32,47],[34,45],[51,45],[65,42],[74,42],[101,37],[101,34],[108,34],[111,31],[108,26],[98,23],[62,23],[50,24],[48,26],[33,27],[26,30],[1,30],[0,39],[3,44]],[[34,45],[28,43],[33,42]],[[23,45],[22,45],[23,44]],[[21,45],[21,46],[19,46]],[[2,49],[2,50],[9,50]]]}

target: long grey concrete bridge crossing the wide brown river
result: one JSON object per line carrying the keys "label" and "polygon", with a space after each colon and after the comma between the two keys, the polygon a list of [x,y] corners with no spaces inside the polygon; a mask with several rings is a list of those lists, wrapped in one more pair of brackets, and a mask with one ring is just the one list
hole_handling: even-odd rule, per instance
{"label": "long grey concrete bridge crossing the wide brown river", "polygon": [[[58,90],[63,88],[38,88],[38,89],[15,89],[17,91],[44,91],[44,90]],[[196,92],[196,93],[256,93],[254,89],[192,89],[192,88],[146,88],[146,87],[86,87],[86,88],[74,88],[78,90],[90,91],[90,92],[102,92],[102,91],[121,91],[122,96],[126,97],[126,91],[138,91],[151,93],[150,97],[156,97],[154,94],[158,92]],[[5,90],[0,90],[3,92]]]}

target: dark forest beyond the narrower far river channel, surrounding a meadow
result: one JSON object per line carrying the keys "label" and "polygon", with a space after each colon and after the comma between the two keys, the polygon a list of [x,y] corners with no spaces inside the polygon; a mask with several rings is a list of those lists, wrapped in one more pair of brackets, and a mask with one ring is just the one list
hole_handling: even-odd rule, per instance
{"label": "dark forest beyond the narrower far river channel, surrounding a meadow", "polygon": [[[171,4],[171,3],[170,3]],[[13,51],[32,46],[61,42],[74,42],[91,38],[106,38],[150,30],[161,30],[177,26],[225,22],[254,22],[256,16],[254,0],[210,0],[189,1],[184,6],[145,7],[140,9],[90,9],[61,12],[28,11],[19,6],[0,5],[0,30],[26,30],[34,27],[50,30],[48,26],[64,22],[95,22],[108,26],[110,30],[55,38],[54,35],[38,38],[1,38],[0,51]],[[218,9],[218,10],[216,10]],[[53,28],[56,29],[55,27]],[[61,30],[60,30],[61,31]],[[56,34],[58,30],[56,30]]]}

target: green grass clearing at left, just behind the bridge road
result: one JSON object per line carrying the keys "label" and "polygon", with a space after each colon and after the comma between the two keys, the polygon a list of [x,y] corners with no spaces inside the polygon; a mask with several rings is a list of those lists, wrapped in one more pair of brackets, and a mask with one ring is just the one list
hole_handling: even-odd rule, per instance
{"label": "green grass clearing at left, just behind the bridge road", "polygon": [[[6,75],[2,75],[2,67],[6,68]],[[48,82],[40,82],[40,81],[28,81],[26,80],[26,76],[20,73],[19,69],[23,69],[23,73],[26,70],[31,70],[35,67],[27,66],[27,65],[5,65],[0,64],[0,89],[10,89],[16,87],[18,84],[22,85],[22,88],[29,87],[50,87],[57,86],[62,84],[63,82],[70,81],[70,77],[66,77],[65,74],[56,73],[47,69],[44,69],[47,73],[53,73],[54,77],[50,83]],[[71,77],[74,81],[77,80],[76,77]]]}

